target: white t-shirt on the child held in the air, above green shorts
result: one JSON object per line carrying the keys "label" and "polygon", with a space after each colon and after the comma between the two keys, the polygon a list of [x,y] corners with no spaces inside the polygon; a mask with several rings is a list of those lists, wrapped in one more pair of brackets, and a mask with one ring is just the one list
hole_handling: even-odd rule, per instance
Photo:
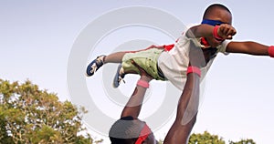
{"label": "white t-shirt on the child held in the air, above green shorts", "polygon": [[[186,82],[186,70],[189,64],[189,49],[203,47],[200,43],[200,39],[201,38],[188,38],[184,33],[175,43],[173,49],[163,52],[158,58],[158,67],[161,68],[164,77],[180,90],[184,89],[184,84]],[[227,54],[226,48],[228,43],[229,42],[226,40],[220,46],[217,46],[217,53],[221,52]],[[212,58],[205,67],[201,68],[202,80],[209,67],[211,67],[214,59],[215,57]]]}

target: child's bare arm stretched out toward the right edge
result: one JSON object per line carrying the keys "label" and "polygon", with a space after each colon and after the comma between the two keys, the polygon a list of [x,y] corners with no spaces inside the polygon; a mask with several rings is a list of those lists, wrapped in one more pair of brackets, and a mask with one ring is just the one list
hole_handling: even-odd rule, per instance
{"label": "child's bare arm stretched out toward the right edge", "polygon": [[[271,48],[269,46],[265,46],[259,44],[257,42],[230,42],[227,45],[227,52],[228,53],[242,53],[248,55],[255,55],[255,56],[270,56],[273,57],[271,54]],[[273,49],[273,48],[272,48]],[[273,51],[273,50],[272,50]]]}

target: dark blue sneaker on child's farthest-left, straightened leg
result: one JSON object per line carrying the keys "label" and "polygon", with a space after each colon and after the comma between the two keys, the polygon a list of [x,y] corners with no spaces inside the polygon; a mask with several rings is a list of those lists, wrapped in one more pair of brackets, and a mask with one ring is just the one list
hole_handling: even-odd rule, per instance
{"label": "dark blue sneaker on child's farthest-left, straightened leg", "polygon": [[87,67],[87,77],[90,77],[92,76],[101,66],[103,66],[104,62],[103,62],[103,59],[104,59],[104,55],[100,56],[100,57],[97,57],[96,59],[94,59],[90,65]]}

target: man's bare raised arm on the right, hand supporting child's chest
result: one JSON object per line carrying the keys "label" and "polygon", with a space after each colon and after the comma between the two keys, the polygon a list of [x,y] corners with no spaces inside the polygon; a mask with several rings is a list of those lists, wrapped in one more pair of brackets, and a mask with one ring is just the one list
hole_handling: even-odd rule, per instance
{"label": "man's bare raised arm on the right, hand supporting child's chest", "polygon": [[[201,49],[190,49],[189,67],[202,67],[205,65],[204,53]],[[198,112],[200,92],[200,76],[197,73],[188,73],[184,90],[178,102],[176,118],[168,131],[165,144],[186,144],[191,130],[195,125]]]}

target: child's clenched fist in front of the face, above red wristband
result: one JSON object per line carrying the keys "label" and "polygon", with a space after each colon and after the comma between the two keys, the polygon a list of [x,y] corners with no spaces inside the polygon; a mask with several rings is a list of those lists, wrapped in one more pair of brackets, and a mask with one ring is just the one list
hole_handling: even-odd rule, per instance
{"label": "child's clenched fist in front of the face, above red wristband", "polygon": [[217,29],[218,36],[221,36],[224,39],[232,39],[232,36],[235,36],[236,33],[236,29],[228,24],[222,24]]}

